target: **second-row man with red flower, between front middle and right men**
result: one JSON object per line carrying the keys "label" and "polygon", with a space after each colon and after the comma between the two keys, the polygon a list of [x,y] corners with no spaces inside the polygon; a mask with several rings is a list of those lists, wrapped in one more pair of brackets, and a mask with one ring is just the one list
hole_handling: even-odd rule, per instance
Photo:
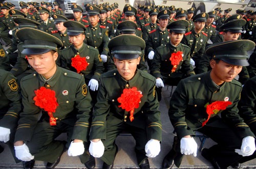
{"label": "second-row man with red flower, between front middle and right men", "polygon": [[188,25],[186,20],[177,20],[168,24],[170,43],[156,48],[151,72],[157,79],[158,101],[161,100],[164,84],[177,86],[182,78],[195,75],[189,60],[190,48],[180,43]]}

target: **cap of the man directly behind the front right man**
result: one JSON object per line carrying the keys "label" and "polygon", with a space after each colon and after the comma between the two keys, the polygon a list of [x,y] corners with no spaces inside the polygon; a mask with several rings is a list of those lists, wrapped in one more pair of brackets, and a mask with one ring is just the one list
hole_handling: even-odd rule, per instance
{"label": "cap of the man directly behind the front right man", "polygon": [[246,24],[246,20],[244,19],[236,19],[224,23],[220,27],[220,32],[233,32],[233,33],[242,33],[243,26]]}

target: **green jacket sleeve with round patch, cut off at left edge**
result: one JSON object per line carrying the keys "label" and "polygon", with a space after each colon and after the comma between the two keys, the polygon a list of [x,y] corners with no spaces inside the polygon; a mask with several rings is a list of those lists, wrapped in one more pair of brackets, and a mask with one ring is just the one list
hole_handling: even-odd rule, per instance
{"label": "green jacket sleeve with round patch, cut off at left edge", "polygon": [[8,71],[0,69],[0,113],[5,114],[0,126],[14,129],[17,126],[22,105],[19,100],[19,86],[16,78]]}

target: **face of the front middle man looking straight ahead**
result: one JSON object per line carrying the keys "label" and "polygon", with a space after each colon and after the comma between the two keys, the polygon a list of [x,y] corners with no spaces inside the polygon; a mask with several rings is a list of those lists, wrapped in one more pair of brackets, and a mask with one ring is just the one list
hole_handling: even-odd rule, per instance
{"label": "face of the front middle man looking straight ahead", "polygon": [[116,65],[118,73],[125,79],[130,80],[135,75],[137,65],[140,63],[140,57],[131,60],[119,60],[114,57],[114,63]]}

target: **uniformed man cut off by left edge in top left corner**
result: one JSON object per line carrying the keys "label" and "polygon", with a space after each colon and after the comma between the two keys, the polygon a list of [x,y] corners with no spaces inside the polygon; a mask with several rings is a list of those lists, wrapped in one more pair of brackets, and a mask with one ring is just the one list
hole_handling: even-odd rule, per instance
{"label": "uniformed man cut off by left edge in top left corner", "polygon": [[9,38],[9,31],[15,27],[13,20],[9,14],[9,9],[6,4],[0,4],[1,12],[3,15],[0,15],[0,37],[6,43],[7,46],[11,46],[12,40]]}

